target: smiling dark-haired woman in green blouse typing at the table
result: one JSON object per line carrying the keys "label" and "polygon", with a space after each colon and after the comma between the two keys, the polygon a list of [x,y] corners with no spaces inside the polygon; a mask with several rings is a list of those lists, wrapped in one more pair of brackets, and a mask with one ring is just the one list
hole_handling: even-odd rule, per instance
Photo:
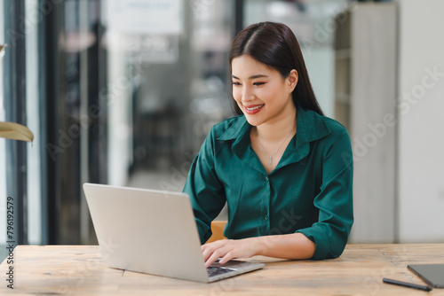
{"label": "smiling dark-haired woman in green blouse typing at the table", "polygon": [[259,254],[336,258],[353,224],[347,130],[323,116],[289,27],[245,28],[229,61],[239,116],[211,129],[184,188],[202,243],[228,206],[228,239],[202,245],[205,264]]}

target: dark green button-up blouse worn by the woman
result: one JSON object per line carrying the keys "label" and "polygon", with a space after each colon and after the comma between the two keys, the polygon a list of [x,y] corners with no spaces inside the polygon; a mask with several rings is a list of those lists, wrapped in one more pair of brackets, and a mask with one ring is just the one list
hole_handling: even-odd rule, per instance
{"label": "dark green button-up blouse worn by the woman", "polygon": [[250,124],[237,116],[215,125],[188,174],[202,244],[225,203],[226,238],[301,232],[316,245],[314,260],[336,258],[353,224],[353,154],[347,130],[297,108],[294,136],[269,175],[250,146]]}

